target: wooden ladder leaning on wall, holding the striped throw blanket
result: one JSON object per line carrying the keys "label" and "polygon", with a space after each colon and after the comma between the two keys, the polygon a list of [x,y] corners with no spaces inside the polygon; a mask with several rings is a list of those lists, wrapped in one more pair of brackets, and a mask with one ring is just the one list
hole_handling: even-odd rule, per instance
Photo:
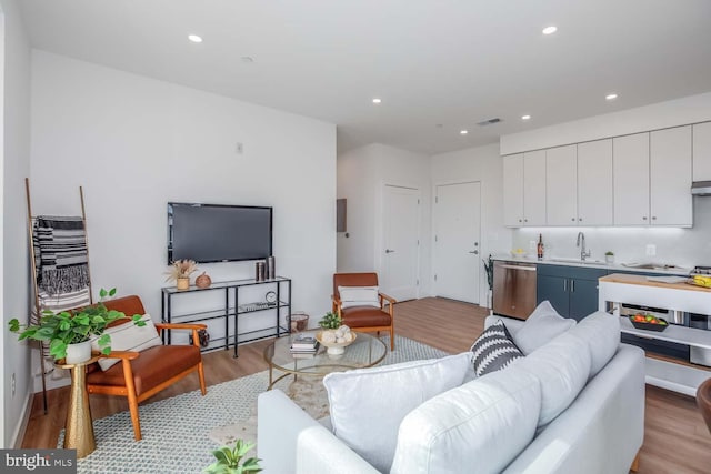
{"label": "wooden ladder leaning on wall, holding the striped throw blanket", "polygon": [[[31,199],[30,199],[30,179],[26,178],[24,179],[24,191],[27,194],[27,223],[28,223],[28,235],[29,235],[29,248],[30,248],[30,261],[32,262],[31,268],[32,268],[32,282],[33,282],[33,291],[34,291],[34,312],[37,314],[37,317],[41,317],[42,315],[42,311],[48,310],[50,307],[47,307],[44,305],[42,305],[42,301],[40,299],[40,288],[39,288],[39,274],[38,274],[38,268],[37,268],[37,252],[38,249],[36,249],[34,242],[34,222],[37,221],[38,216],[32,214],[32,203],[31,203]],[[92,290],[91,290],[91,271],[90,271],[90,265],[89,265],[89,235],[87,232],[87,211],[84,208],[84,192],[82,186],[79,186],[79,198],[81,201],[81,223],[83,226],[83,234],[84,234],[84,246],[87,250],[87,274],[88,274],[88,280],[89,280],[89,284],[88,284],[88,291],[89,291],[89,304],[93,304],[93,295],[92,295]],[[86,302],[82,304],[79,304],[77,306],[73,307],[62,307],[62,311],[66,310],[71,310],[74,307],[80,307],[86,305]],[[46,351],[46,345],[41,342],[38,341],[39,344],[39,349],[40,349],[40,367],[42,371],[42,402],[43,402],[43,406],[44,406],[44,414],[47,414],[47,370],[44,366],[44,357],[47,354]]]}

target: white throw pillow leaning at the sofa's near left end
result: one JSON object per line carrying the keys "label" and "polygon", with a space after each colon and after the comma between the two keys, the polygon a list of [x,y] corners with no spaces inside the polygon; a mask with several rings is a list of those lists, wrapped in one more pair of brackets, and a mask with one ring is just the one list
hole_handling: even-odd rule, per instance
{"label": "white throw pillow leaning at the sofa's near left end", "polygon": [[471,353],[382,367],[336,372],[323,377],[333,434],[377,470],[388,472],[398,427],[422,402],[461,385]]}

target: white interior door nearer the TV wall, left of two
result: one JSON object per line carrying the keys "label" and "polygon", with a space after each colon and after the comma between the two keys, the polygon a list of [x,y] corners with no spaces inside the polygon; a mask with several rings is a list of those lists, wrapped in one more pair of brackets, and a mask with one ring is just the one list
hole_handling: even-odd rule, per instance
{"label": "white interior door nearer the TV wall, left of two", "polygon": [[383,293],[398,301],[418,297],[420,191],[385,185],[383,212]]}

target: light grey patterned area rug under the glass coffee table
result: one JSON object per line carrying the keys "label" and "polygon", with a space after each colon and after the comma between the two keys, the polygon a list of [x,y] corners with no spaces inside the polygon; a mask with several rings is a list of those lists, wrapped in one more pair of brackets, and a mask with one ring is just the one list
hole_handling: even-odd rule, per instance
{"label": "light grey patterned area rug under the glass coffee table", "polygon": [[[388,352],[382,364],[444,355],[447,353],[438,349],[395,336],[395,350]],[[313,387],[290,387],[288,379],[277,387],[286,393],[291,389],[292,397],[310,399],[308,394],[299,392]],[[143,440],[139,442],[133,440],[128,411],[96,420],[97,450],[78,461],[78,473],[200,473],[214,460],[211,452],[220,443],[211,440],[210,435],[219,438],[221,427],[224,430],[223,438],[237,436],[257,442],[254,407],[257,397],[267,390],[268,384],[269,373],[264,371],[211,385],[204,396],[200,391],[193,391],[140,405]],[[318,401],[312,405],[319,409]],[[63,435],[62,431],[58,447],[62,445]]]}

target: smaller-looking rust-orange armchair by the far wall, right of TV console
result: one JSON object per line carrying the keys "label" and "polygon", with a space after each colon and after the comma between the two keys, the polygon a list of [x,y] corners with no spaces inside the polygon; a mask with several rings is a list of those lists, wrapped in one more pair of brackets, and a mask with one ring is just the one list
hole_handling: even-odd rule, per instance
{"label": "smaller-looking rust-orange armchair by the far wall, right of TV console", "polygon": [[[394,297],[384,293],[378,293],[380,307],[374,306],[352,306],[341,307],[341,295],[339,286],[378,286],[378,273],[334,273],[333,274],[333,312],[338,314],[343,324],[360,332],[390,332],[390,350],[395,349],[395,317]],[[385,307],[385,302],[388,305]]]}

